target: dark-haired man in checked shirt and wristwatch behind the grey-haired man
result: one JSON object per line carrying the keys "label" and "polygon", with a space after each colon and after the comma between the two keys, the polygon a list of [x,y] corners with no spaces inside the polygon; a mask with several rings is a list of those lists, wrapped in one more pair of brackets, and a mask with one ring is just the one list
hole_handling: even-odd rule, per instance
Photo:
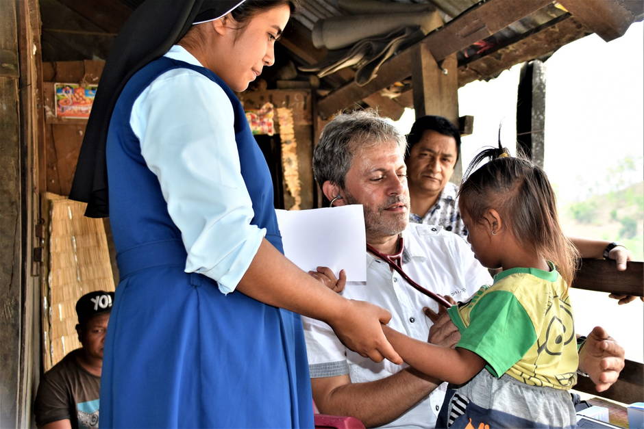
{"label": "dark-haired man in checked shirt and wristwatch behind the grey-haired man", "polygon": [[[467,229],[458,211],[458,186],[449,180],[460,157],[460,132],[447,118],[421,116],[407,135],[408,186],[410,222],[441,225],[462,237]],[[604,240],[570,237],[584,258],[614,259],[617,270],[626,270],[630,252],[621,244]],[[626,304],[632,296],[612,294],[611,298]]]}

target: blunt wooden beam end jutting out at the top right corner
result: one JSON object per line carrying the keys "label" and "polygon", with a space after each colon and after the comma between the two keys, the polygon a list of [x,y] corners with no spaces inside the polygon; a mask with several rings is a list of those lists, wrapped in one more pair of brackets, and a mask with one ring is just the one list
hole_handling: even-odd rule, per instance
{"label": "blunt wooden beam end jutting out at the top right corner", "polygon": [[623,36],[635,21],[632,12],[619,0],[560,0],[559,3],[606,42]]}

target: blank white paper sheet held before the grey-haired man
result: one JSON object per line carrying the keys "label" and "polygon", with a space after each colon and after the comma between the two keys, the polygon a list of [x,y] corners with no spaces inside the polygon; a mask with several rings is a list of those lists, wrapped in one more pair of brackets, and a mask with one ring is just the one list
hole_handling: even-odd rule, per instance
{"label": "blank white paper sheet held before the grey-haired man", "polygon": [[367,281],[362,205],[275,213],[284,255],[299,268],[315,271],[325,266],[336,276],[344,269],[347,281]]}

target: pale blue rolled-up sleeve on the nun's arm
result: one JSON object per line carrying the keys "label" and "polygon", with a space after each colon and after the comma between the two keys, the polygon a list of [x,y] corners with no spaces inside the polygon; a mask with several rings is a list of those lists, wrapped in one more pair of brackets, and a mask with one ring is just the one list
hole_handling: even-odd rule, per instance
{"label": "pale blue rolled-up sleeve on the nun's arm", "polygon": [[234,291],[266,230],[250,224],[230,99],[194,70],[171,70],[138,96],[130,125],[181,231],[186,272],[214,279],[223,294]]}

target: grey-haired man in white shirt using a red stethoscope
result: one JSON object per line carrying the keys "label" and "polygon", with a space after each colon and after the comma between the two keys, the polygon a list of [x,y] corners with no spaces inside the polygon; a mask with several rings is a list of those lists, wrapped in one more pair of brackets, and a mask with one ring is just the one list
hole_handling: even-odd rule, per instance
{"label": "grey-haired man in white shirt using a red stethoscope", "polygon": [[[396,129],[375,114],[340,115],[326,125],[315,148],[316,180],[334,205],[364,206],[367,243],[377,252],[401,250],[401,266],[410,278],[440,295],[467,300],[491,278],[456,235],[436,226],[408,224],[404,147]],[[413,289],[384,259],[371,253],[366,257],[367,282],[347,283],[343,296],[379,304],[391,311],[392,328],[426,341],[432,322],[423,307],[437,311],[438,304]],[[330,287],[336,283],[327,270],[315,275]],[[445,338],[452,345],[454,329],[443,322],[441,335],[432,339]],[[345,348],[329,326],[306,317],[303,323],[313,398],[321,413],[357,417],[365,426],[434,427],[444,396],[444,388],[437,389],[439,380],[404,365],[373,363]],[[603,389],[617,380],[622,368],[621,347],[607,335],[589,335],[580,369],[597,383],[601,378]]]}

